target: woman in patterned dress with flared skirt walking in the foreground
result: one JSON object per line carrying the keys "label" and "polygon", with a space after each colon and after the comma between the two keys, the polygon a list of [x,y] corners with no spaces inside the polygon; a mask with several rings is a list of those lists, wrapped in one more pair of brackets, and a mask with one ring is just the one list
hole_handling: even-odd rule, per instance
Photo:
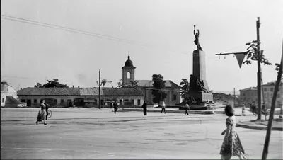
{"label": "woman in patterned dress with flared skirt walking in the foreground", "polygon": [[228,118],[226,118],[227,128],[221,133],[221,135],[225,135],[220,150],[221,159],[231,159],[231,156],[238,156],[239,159],[245,159],[245,151],[236,132],[236,117],[231,105],[226,106],[225,113]]}

